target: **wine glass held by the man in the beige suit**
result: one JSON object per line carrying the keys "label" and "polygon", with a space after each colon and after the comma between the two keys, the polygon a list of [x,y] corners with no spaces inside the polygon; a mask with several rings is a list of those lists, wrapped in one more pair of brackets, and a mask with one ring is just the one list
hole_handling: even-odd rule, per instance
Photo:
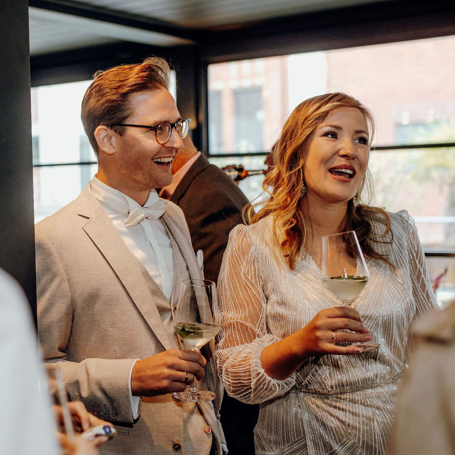
{"label": "wine glass held by the man in the beige suit", "polygon": [[[208,343],[220,329],[217,290],[209,280],[183,280],[174,313],[174,329],[192,351]],[[175,398],[187,401],[210,401],[215,394],[198,389],[196,377],[183,392],[173,392]]]}

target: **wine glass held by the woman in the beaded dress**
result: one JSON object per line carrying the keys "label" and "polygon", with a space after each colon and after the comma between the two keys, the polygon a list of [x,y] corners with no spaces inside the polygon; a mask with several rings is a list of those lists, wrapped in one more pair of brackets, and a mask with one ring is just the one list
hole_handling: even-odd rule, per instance
{"label": "wine glass held by the woman in the beaded dress", "polygon": [[[369,272],[355,231],[322,238],[322,281],[329,291],[353,306],[368,283]],[[360,352],[379,348],[377,343],[352,343]]]}

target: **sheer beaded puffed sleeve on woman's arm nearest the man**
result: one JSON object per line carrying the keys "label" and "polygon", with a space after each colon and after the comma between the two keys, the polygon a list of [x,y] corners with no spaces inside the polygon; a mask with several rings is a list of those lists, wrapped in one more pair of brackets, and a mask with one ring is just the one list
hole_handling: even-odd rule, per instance
{"label": "sheer beaded puffed sleeve on woman's arm nearest the man", "polygon": [[218,279],[221,330],[215,355],[227,393],[250,404],[282,395],[295,383],[294,374],[280,381],[262,368],[263,350],[279,341],[267,334],[264,290],[257,245],[248,227],[238,226],[229,236]]}

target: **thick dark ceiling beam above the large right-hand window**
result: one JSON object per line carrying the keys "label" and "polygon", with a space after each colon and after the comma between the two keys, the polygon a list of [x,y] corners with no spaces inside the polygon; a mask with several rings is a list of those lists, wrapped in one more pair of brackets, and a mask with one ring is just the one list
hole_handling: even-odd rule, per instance
{"label": "thick dark ceiling beam above the large right-hand window", "polygon": [[201,56],[216,63],[454,34],[453,0],[389,0],[208,32]]}

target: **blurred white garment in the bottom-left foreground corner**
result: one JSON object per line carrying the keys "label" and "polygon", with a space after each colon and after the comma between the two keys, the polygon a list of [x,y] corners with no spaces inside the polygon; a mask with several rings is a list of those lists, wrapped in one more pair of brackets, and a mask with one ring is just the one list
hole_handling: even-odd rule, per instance
{"label": "blurred white garment in the bottom-left foreground corner", "polygon": [[59,453],[51,400],[30,319],[22,289],[0,270],[1,455]]}

